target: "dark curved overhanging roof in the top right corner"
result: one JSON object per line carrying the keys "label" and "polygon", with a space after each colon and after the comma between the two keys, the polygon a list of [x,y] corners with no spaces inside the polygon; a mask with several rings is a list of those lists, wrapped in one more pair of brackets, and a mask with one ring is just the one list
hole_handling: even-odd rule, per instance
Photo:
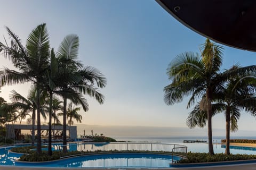
{"label": "dark curved overhanging roof in the top right corner", "polygon": [[255,0],[156,0],[186,27],[218,43],[256,52]]}

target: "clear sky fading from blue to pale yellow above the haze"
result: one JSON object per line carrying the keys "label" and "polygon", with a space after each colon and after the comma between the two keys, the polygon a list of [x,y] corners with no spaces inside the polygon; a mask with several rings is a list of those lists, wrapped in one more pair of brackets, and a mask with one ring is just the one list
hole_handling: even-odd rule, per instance
{"label": "clear sky fading from blue to pale yellow above the haze", "polygon": [[[99,69],[107,78],[107,87],[100,90],[106,97],[103,105],[86,96],[90,106],[88,112],[80,112],[83,124],[187,127],[186,118],[191,111],[186,108],[188,99],[173,106],[164,103],[163,88],[170,83],[166,68],[183,52],[199,52],[205,37],[175,20],[157,2],[0,0],[0,3],[3,43],[4,37],[10,42],[5,26],[20,37],[23,45],[30,31],[41,23],[46,23],[51,47],[55,49],[70,33],[79,36],[79,60]],[[224,47],[222,71],[237,63],[241,66],[256,63],[255,53]],[[2,55],[0,58],[0,68],[13,69],[9,60]],[[29,83],[2,87],[0,96],[10,101],[12,89],[27,96],[29,88]],[[225,116],[213,117],[212,123],[213,129],[225,129]],[[255,117],[243,113],[239,130],[256,130],[255,123]]]}

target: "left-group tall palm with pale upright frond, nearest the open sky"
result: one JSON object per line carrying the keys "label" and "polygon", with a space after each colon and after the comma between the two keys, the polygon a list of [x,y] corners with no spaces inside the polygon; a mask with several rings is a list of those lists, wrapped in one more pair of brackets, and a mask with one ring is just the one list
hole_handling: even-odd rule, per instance
{"label": "left-group tall palm with pale upright frond, nearest the open sky", "polygon": [[[88,104],[82,94],[94,97],[103,104],[104,97],[100,94],[95,84],[99,88],[106,86],[106,78],[103,74],[93,67],[85,67],[77,61],[79,40],[76,35],[68,35],[64,38],[56,55],[59,64],[59,78],[55,80],[55,86],[59,88],[55,91],[63,97],[63,146],[67,145],[66,117],[67,99],[75,105],[80,104],[84,111],[87,111]],[[66,152],[63,147],[63,152]]]}

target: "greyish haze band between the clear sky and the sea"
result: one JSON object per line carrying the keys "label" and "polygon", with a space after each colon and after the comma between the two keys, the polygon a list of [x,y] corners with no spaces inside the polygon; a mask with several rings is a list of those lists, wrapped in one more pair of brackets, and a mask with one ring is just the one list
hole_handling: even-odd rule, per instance
{"label": "greyish haze band between the clear sky and the sea", "polygon": [[[134,126],[134,125],[89,125],[89,124],[75,124],[77,126],[77,135],[83,134],[85,130],[85,135],[90,135],[91,130],[93,134],[103,133],[106,136],[140,136],[140,137],[183,137],[191,136],[197,137],[207,136],[207,129],[195,128],[180,128],[171,126]],[[225,136],[225,129],[212,129],[213,136]],[[234,137],[253,137],[254,131],[250,130],[238,130],[235,133],[230,133],[230,136]]]}

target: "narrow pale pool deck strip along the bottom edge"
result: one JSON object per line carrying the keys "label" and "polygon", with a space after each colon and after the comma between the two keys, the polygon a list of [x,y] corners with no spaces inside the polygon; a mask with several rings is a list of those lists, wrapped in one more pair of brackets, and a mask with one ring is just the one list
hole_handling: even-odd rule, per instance
{"label": "narrow pale pool deck strip along the bottom edge", "polygon": [[[63,169],[72,169],[72,170],[81,170],[81,169],[93,169],[93,170],[102,170],[102,169],[147,169],[147,168],[47,168],[47,167],[15,167],[15,166],[0,166],[1,170],[63,170]],[[211,166],[211,167],[193,167],[193,168],[148,168],[148,169],[206,169],[206,170],[253,170],[256,169],[256,164],[244,164],[244,165],[229,165],[229,166]]]}

